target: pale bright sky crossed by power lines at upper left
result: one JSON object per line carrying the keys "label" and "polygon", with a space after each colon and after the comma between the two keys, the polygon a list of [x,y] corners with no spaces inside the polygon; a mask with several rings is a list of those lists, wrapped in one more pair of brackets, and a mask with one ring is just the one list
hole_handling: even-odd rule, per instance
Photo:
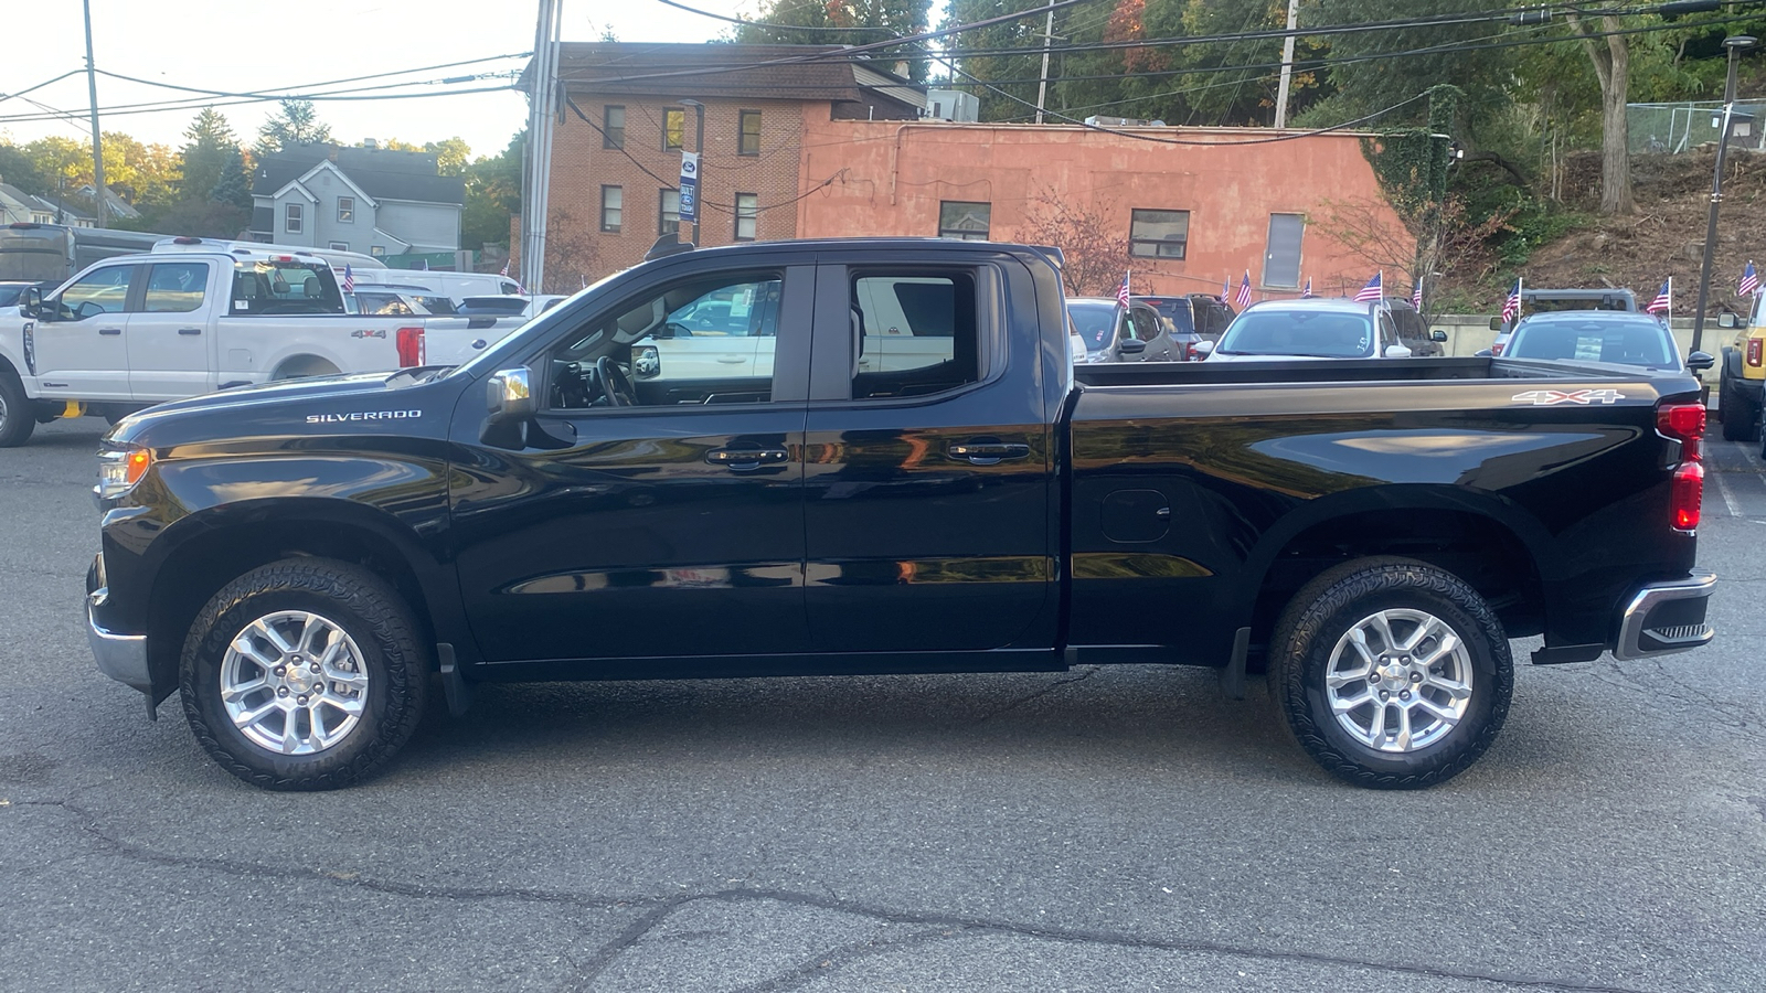
{"label": "pale bright sky crossed by power lines at upper left", "polygon": [[[563,41],[595,41],[611,30],[620,41],[691,42],[710,41],[729,25],[678,11],[655,0],[558,0],[563,7]],[[533,48],[539,0],[505,4],[429,4],[380,0],[302,0],[261,5],[238,0],[90,0],[92,49],[99,69],[152,83],[200,90],[288,92],[313,83],[355,76],[420,69]],[[692,7],[726,16],[749,14],[756,0],[691,0]],[[7,46],[0,58],[0,138],[26,143],[48,134],[87,140],[92,125],[85,74],[85,23],[78,0],[12,0],[7,4]],[[526,58],[429,69],[387,80],[341,83],[336,88],[376,87],[389,81],[427,81],[477,72],[509,72]],[[28,92],[46,80],[72,76]],[[447,90],[500,87],[509,80],[480,80]],[[140,141],[184,145],[184,129],[203,102],[215,102],[233,133],[245,145],[275,110],[274,102],[219,106],[224,97],[180,94],[161,87],[97,78],[99,125],[124,131]],[[106,113],[122,104],[191,99],[182,110],[161,113]],[[42,117],[37,101],[76,120],[18,120]],[[526,124],[526,99],[516,92],[392,99],[321,101],[320,120],[332,138],[355,145],[364,138],[399,138],[424,143],[459,136],[472,155],[503,150]]]}

